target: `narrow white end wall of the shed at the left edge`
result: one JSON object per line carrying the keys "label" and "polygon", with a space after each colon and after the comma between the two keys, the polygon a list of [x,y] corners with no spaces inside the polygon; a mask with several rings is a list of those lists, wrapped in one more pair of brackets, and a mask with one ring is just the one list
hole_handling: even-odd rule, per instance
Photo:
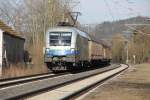
{"label": "narrow white end wall of the shed at the left edge", "polygon": [[0,77],[2,76],[3,31],[0,29]]}

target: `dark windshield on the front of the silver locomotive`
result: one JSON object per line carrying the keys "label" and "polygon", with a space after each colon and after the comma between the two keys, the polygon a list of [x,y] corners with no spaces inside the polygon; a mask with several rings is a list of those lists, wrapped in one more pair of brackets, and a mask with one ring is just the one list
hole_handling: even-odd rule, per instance
{"label": "dark windshield on the front of the silver locomotive", "polygon": [[50,46],[70,46],[71,32],[51,32],[49,35]]}

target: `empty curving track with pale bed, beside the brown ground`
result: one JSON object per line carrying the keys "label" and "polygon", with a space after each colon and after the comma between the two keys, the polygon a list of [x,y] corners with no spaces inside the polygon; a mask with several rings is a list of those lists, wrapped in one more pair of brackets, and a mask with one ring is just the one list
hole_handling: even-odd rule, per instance
{"label": "empty curving track with pale bed, beside the brown ground", "polygon": [[44,100],[73,100],[127,68],[128,66],[125,65],[119,68],[114,68],[112,70],[78,80],[68,85],[64,85],[46,93],[27,98],[27,100],[42,100],[43,97]]}

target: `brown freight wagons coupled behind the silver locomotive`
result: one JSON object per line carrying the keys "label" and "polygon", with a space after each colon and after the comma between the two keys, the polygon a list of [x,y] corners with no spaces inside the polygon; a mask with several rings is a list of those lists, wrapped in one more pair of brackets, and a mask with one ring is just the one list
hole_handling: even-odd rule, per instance
{"label": "brown freight wagons coupled behind the silver locomotive", "polygon": [[109,64],[111,60],[111,48],[104,41],[90,35],[89,59],[92,65]]}

